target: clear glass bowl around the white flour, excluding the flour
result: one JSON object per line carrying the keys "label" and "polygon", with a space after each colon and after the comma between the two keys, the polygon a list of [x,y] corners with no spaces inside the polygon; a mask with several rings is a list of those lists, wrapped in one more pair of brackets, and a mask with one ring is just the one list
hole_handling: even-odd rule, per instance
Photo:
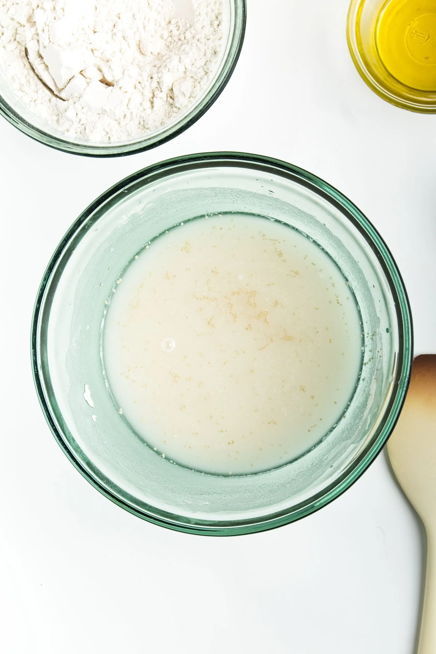
{"label": "clear glass bowl around the white flour, excluding the flour", "polygon": [[159,131],[122,143],[91,143],[76,139],[70,141],[63,132],[56,130],[48,122],[39,118],[24,105],[10,88],[10,84],[0,65],[0,115],[14,127],[37,141],[57,150],[88,156],[122,156],[154,148],[173,139],[188,129],[212,106],[226,86],[241,54],[246,25],[246,0],[222,0],[224,43],[222,59],[209,86],[195,103],[180,113],[176,120]]}

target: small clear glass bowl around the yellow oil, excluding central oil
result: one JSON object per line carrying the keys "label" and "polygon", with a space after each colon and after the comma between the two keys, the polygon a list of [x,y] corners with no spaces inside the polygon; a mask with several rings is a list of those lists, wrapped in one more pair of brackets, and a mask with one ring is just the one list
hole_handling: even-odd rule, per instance
{"label": "small clear glass bowl around the yellow oil, excluding central oil", "polygon": [[[393,2],[399,5],[397,0]],[[435,113],[435,91],[420,90],[404,84],[383,63],[377,44],[377,27],[381,12],[388,9],[388,5],[390,0],[352,0],[346,31],[352,60],[369,88],[384,100],[401,109]],[[427,10],[423,9],[422,12],[424,17],[428,16]],[[409,26],[410,29],[413,29],[413,24]],[[390,44],[391,50],[394,46],[394,43]]]}

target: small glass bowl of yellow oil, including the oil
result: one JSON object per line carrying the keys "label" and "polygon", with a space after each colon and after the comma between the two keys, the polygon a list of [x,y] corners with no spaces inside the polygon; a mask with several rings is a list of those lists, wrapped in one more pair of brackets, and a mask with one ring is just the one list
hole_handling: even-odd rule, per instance
{"label": "small glass bowl of yellow oil, including the oil", "polygon": [[436,0],[352,0],[347,39],[361,77],[380,97],[436,113]]}

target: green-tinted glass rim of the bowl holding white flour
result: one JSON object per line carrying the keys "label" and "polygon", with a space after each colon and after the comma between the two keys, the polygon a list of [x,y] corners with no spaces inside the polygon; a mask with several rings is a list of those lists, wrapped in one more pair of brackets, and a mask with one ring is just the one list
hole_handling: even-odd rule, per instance
{"label": "green-tinted glass rim of the bowl holding white flour", "polygon": [[163,128],[161,130],[161,137],[154,139],[154,135],[159,134],[158,132],[152,132],[146,135],[143,138],[137,139],[136,141],[127,141],[124,143],[105,143],[103,145],[93,145],[91,142],[84,141],[83,143],[75,143],[74,141],[68,141],[58,136],[47,133],[43,129],[37,128],[37,126],[28,122],[23,118],[15,109],[13,109],[7,101],[0,95],[0,116],[3,116],[12,126],[16,129],[19,129],[26,136],[30,137],[34,141],[39,141],[43,145],[47,145],[54,150],[59,150],[60,152],[67,152],[68,154],[76,154],[80,156],[89,156],[95,158],[110,158],[117,156],[126,156],[129,154],[138,154],[139,152],[145,152],[146,150],[152,150],[167,141],[171,141],[176,136],[183,133],[186,129],[192,127],[192,125],[201,118],[210,107],[214,104],[216,99],[222,94],[224,88],[226,88],[227,83],[229,82],[233,71],[241,55],[241,50],[243,48],[245,30],[246,30],[246,15],[247,7],[246,0],[231,0],[235,5],[235,20],[234,20],[234,31],[230,41],[229,52],[227,57],[220,64],[218,69],[218,77],[214,82],[209,86],[209,89],[203,96],[203,100],[199,103],[194,103],[193,107],[186,113],[182,114],[180,120],[176,119],[173,124]]}

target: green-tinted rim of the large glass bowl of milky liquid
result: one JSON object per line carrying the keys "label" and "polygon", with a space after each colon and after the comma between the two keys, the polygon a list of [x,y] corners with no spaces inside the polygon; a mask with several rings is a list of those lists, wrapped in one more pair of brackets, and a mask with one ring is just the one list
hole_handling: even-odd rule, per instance
{"label": "green-tinted rim of the large glass bowl of milky liquid", "polygon": [[[382,267],[390,289],[395,298],[395,311],[397,315],[398,330],[399,330],[399,356],[397,360],[394,390],[385,410],[387,416],[382,428],[378,433],[377,439],[373,442],[371,447],[364,450],[352,466],[350,466],[344,473],[332,483],[329,487],[322,491],[322,494],[311,498],[307,503],[301,506],[294,506],[290,509],[285,509],[280,513],[274,513],[261,517],[260,519],[246,519],[240,521],[229,521],[227,523],[220,522],[219,524],[212,521],[198,521],[192,524],[188,519],[173,515],[170,513],[157,514],[156,509],[150,508],[150,511],[143,511],[132,502],[129,502],[129,497],[124,494],[124,497],[117,495],[110,490],[110,480],[108,479],[107,486],[104,486],[99,480],[95,479],[92,474],[82,465],[78,456],[71,450],[65,438],[59,432],[58,426],[52,411],[46,393],[44,392],[44,382],[42,380],[42,368],[39,356],[39,336],[41,332],[41,321],[44,312],[44,305],[46,301],[50,302],[47,296],[47,290],[56,268],[61,260],[63,253],[67,247],[71,247],[71,243],[75,241],[78,230],[89,220],[87,227],[93,224],[95,214],[101,215],[100,211],[103,205],[110,207],[116,202],[116,198],[120,192],[134,184],[135,186],[143,186],[144,184],[159,181],[167,177],[167,175],[174,175],[175,173],[182,173],[193,169],[210,168],[212,166],[219,167],[246,167],[249,169],[258,170],[260,172],[271,172],[280,175],[284,179],[297,182],[305,188],[309,188],[316,195],[331,203],[331,205],[339,208],[343,215],[352,222],[355,228],[365,237],[369,247],[375,252],[378,262]],[[99,211],[100,210],[100,211]],[[409,387],[412,367],[413,356],[413,328],[412,328],[412,315],[409,305],[407,292],[401,279],[401,274],[395,264],[395,260],[390,253],[390,250],[384,243],[384,240],[377,232],[375,227],[369,220],[361,213],[361,211],[346,198],[337,189],[327,184],[319,177],[296,167],[290,163],[282,162],[280,160],[260,156],[256,154],[245,154],[239,152],[211,152],[205,154],[192,154],[182,156],[180,158],[166,160],[164,162],[155,163],[150,165],[133,175],[129,175],[124,180],[115,184],[99,198],[97,198],[73,223],[69,231],[65,234],[58,248],[54,252],[50,263],[44,273],[44,277],[39,288],[35,309],[33,313],[32,332],[31,332],[31,357],[33,366],[33,378],[39,402],[42,411],[46,417],[46,421],[52,430],[55,438],[58,440],[59,445],[68,456],[69,460],[76,466],[82,475],[92,483],[92,485],[99,490],[107,498],[118,504],[127,511],[137,515],[147,521],[156,525],[165,526],[174,530],[193,533],[193,534],[207,534],[211,536],[235,536],[238,534],[249,534],[252,532],[260,532],[272,529],[278,526],[286,525],[287,523],[301,519],[314,511],[326,506],[332,500],[341,495],[344,490],[348,489],[368,468],[373,462],[382,447],[389,438],[394,426],[399,417],[401,408],[405,401],[407,388]]]}

